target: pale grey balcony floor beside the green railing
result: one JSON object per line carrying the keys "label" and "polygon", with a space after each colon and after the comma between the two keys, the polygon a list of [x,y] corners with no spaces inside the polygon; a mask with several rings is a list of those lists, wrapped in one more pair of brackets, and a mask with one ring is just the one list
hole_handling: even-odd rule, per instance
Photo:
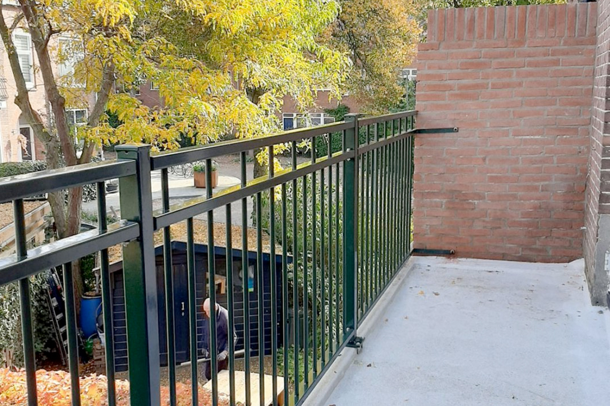
{"label": "pale grey balcony floor beside the green railing", "polygon": [[610,315],[583,268],[414,257],[306,405],[607,405]]}

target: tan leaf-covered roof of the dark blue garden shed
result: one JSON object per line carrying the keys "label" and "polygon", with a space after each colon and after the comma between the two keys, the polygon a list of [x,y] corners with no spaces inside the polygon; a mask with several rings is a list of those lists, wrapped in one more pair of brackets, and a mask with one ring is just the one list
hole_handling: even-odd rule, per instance
{"label": "tan leaf-covered roof of the dark blue garden shed", "polygon": [[[226,247],[226,224],[213,223],[214,231],[214,246]],[[241,250],[242,247],[242,226],[231,225],[231,248]],[[207,221],[193,219],[193,237],[196,244],[207,245]],[[256,228],[246,228],[248,233],[248,250],[256,250]],[[172,241],[187,242],[187,225],[186,222],[176,223],[170,226],[170,235]],[[163,245],[163,230],[160,229],[154,233],[154,245],[159,247]],[[264,253],[271,251],[271,242],[269,236],[263,233],[262,250]],[[281,247],[276,246],[276,252],[281,253]],[[115,245],[108,250],[110,264],[123,260],[121,245]]]}

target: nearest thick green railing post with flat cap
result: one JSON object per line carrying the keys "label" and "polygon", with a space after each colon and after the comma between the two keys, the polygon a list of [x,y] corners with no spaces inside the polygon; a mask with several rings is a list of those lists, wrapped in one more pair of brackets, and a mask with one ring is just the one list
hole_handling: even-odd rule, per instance
{"label": "nearest thick green railing post with flat cap", "polygon": [[140,237],[123,245],[131,405],[158,406],[159,321],[150,145],[120,145],[115,150],[119,160],[131,159],[137,166],[135,175],[119,181],[121,219],[140,224]]}

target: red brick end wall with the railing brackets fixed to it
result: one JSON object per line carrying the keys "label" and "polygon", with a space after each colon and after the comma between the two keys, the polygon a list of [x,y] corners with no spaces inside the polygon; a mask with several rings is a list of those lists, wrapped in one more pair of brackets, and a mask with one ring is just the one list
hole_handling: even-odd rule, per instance
{"label": "red brick end wall with the railing brackets fixed to it", "polygon": [[583,255],[597,4],[434,10],[418,52],[415,248]]}

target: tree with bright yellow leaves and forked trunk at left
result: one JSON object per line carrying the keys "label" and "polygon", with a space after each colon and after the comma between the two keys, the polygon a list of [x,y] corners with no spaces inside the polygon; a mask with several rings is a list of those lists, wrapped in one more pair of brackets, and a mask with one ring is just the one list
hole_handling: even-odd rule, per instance
{"label": "tree with bright yellow leaves and forked trunk at left", "polygon": [[[16,7],[16,18],[4,13],[8,7]],[[106,143],[162,150],[178,147],[182,136],[204,144],[270,133],[285,94],[303,106],[321,85],[338,96],[349,63],[318,41],[339,12],[334,0],[18,0],[2,2],[0,12],[14,102],[46,145],[48,169],[88,163]],[[30,104],[12,37],[18,28],[32,38],[48,120]],[[76,60],[74,74],[56,77],[53,66],[67,60]],[[159,85],[163,107],[133,96],[147,80]],[[127,91],[117,94],[114,86]],[[95,105],[75,142],[66,107],[86,106],[92,94]],[[107,110],[122,122],[117,128]],[[48,200],[59,237],[76,234],[82,189]]]}

